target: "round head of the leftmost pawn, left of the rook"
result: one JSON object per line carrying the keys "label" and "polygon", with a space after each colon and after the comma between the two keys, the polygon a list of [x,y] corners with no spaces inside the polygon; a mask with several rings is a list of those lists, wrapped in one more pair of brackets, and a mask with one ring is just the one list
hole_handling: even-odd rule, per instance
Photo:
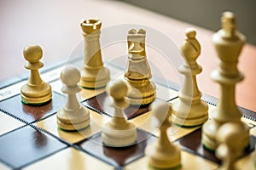
{"label": "round head of the leftmost pawn, left of the rook", "polygon": [[23,49],[23,55],[27,61],[31,63],[36,63],[42,58],[43,50],[37,44],[28,45],[26,46],[26,48]]}

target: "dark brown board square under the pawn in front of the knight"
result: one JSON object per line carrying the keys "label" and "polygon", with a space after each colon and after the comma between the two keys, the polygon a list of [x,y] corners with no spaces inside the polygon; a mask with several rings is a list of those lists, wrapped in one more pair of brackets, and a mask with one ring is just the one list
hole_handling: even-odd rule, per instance
{"label": "dark brown board square under the pawn in front of the knight", "polygon": [[96,133],[90,139],[80,142],[82,150],[89,152],[92,156],[108,162],[115,167],[124,167],[144,156],[146,146],[155,141],[156,138],[141,129],[137,129],[137,142],[126,147],[108,147],[102,144],[102,133]]}

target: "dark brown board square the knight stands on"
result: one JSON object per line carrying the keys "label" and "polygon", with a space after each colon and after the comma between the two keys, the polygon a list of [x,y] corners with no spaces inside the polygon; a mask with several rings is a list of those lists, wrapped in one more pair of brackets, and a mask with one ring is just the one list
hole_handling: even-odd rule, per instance
{"label": "dark brown board square the knight stands on", "polygon": [[[89,107],[91,110],[108,115],[113,116],[113,107],[111,107],[111,98],[108,96],[106,92],[102,94],[98,94],[95,97],[92,97],[90,99],[86,99],[83,102],[83,105],[86,107]],[[143,113],[146,113],[149,111],[149,105],[129,105],[125,109],[125,116],[127,116],[128,119],[134,118],[136,116],[143,115]]]}

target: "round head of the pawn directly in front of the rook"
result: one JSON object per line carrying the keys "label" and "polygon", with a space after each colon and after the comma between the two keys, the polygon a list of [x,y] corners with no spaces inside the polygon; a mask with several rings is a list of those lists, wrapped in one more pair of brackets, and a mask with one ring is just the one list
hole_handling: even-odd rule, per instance
{"label": "round head of the pawn directly in front of the rook", "polygon": [[63,71],[61,71],[61,82],[67,86],[77,86],[80,78],[81,75],[79,69],[73,66],[67,66]]}

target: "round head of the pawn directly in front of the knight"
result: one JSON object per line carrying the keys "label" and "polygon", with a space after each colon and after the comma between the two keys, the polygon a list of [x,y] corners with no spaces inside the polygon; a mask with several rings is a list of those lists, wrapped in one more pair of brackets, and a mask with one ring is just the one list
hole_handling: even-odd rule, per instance
{"label": "round head of the pawn directly in front of the knight", "polygon": [[116,80],[112,83],[109,88],[109,95],[113,97],[114,100],[124,100],[128,92],[128,87],[124,81]]}

